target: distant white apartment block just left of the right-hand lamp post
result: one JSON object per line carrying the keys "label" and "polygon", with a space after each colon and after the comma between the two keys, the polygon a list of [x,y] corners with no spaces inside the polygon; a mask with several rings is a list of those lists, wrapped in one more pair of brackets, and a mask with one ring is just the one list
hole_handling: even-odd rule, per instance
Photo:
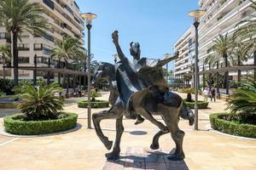
{"label": "distant white apartment block just left of the right-hand lamp post", "polygon": [[179,51],[179,58],[174,64],[174,78],[183,82],[191,82],[191,76],[188,73],[193,70],[193,59],[195,57],[195,40],[193,27],[189,27],[187,31],[174,44],[175,51]]}

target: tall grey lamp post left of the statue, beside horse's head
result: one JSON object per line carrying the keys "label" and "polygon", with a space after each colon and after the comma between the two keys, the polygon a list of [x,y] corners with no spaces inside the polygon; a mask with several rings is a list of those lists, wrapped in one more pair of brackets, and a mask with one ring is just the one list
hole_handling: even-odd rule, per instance
{"label": "tall grey lamp post left of the statue, beside horse's head", "polygon": [[88,51],[87,51],[87,78],[88,78],[88,89],[87,89],[87,95],[88,95],[88,107],[87,107],[87,118],[88,118],[88,128],[91,128],[91,108],[90,108],[90,29],[92,27],[91,22],[93,19],[96,19],[96,14],[92,13],[83,13],[81,14],[81,17],[86,20],[86,27],[88,30]]}

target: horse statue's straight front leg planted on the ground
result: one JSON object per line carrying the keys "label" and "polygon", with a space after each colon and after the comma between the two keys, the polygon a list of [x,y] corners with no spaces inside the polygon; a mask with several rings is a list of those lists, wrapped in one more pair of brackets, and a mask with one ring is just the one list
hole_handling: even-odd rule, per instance
{"label": "horse statue's straight front leg planted on the ground", "polygon": [[120,155],[120,142],[121,142],[121,137],[124,132],[124,126],[123,126],[123,116],[120,116],[116,120],[116,137],[115,137],[115,142],[113,146],[113,151],[106,154],[106,157],[108,160],[117,160],[119,159]]}

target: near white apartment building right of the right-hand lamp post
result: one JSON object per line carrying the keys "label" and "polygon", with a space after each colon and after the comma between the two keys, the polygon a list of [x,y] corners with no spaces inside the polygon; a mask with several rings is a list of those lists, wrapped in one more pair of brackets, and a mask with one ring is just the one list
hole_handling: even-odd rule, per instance
{"label": "near white apartment building right of the right-hand lamp post", "polygon": [[[201,0],[199,6],[206,11],[199,27],[199,68],[202,70],[207,50],[219,34],[232,36],[237,23],[256,14],[249,0]],[[210,54],[214,54],[211,52]],[[222,64],[222,63],[221,63]],[[249,59],[246,64],[253,64]],[[207,67],[207,65],[206,65]],[[207,69],[207,68],[206,68]],[[246,71],[243,72],[245,74]],[[237,72],[230,72],[230,79],[236,79]]]}

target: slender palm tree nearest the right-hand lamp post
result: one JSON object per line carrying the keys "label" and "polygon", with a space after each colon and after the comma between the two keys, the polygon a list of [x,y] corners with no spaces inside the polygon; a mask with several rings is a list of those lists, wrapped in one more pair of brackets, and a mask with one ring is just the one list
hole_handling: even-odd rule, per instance
{"label": "slender palm tree nearest the right-hand lamp post", "polygon": [[[210,50],[215,51],[218,55],[220,55],[224,59],[224,66],[228,67],[228,58],[230,53],[230,48],[232,47],[232,42],[230,41],[230,38],[228,37],[228,32],[223,35],[218,35],[218,37],[213,40],[214,45]],[[226,88],[226,94],[229,94],[229,71],[225,72],[225,88]]]}

